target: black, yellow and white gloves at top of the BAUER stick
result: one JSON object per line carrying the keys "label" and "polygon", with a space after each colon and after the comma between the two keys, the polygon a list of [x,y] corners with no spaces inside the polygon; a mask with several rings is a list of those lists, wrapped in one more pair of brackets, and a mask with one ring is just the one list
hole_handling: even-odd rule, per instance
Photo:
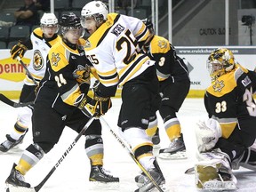
{"label": "black, yellow and white gloves at top of the BAUER stick", "polygon": [[78,106],[86,116],[92,116],[95,113],[97,116],[104,115],[111,107],[112,102],[110,98],[102,98],[97,95],[95,95],[93,99],[86,96]]}

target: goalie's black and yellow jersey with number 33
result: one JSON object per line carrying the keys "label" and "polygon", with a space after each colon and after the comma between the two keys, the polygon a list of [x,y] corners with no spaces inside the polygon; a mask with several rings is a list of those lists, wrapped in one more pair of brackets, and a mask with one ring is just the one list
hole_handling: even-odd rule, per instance
{"label": "goalie's black and yellow jersey with number 33", "polygon": [[235,69],[212,82],[204,94],[204,105],[209,117],[220,123],[224,138],[228,138],[239,126],[240,120],[250,127],[252,118],[246,119],[252,116],[256,121],[256,108],[248,70],[236,64]]}

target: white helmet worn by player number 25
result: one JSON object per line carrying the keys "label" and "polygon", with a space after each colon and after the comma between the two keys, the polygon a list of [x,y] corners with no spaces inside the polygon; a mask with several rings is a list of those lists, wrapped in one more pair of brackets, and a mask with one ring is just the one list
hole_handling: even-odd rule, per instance
{"label": "white helmet worn by player number 25", "polygon": [[81,24],[84,28],[84,20],[88,17],[93,17],[98,23],[107,20],[108,7],[101,1],[92,1],[85,4],[81,11]]}

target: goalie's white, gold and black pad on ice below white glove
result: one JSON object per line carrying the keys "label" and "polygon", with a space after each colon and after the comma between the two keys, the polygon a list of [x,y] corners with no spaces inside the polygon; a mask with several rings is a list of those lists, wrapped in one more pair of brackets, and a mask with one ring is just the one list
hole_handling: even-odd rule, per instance
{"label": "goalie's white, gold and black pad on ice below white glove", "polygon": [[227,154],[213,150],[200,156],[204,156],[204,160],[195,166],[196,188],[210,191],[236,190],[237,180]]}

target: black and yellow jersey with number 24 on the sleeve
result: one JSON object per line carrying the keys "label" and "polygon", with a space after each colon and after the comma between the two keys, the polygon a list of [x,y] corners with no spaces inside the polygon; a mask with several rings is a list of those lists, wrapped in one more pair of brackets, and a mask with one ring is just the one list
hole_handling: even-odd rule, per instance
{"label": "black and yellow jersey with number 24 on the sleeve", "polygon": [[61,114],[68,114],[84,98],[89,87],[90,62],[85,57],[84,46],[74,50],[63,41],[52,46],[36,102],[43,101]]}

